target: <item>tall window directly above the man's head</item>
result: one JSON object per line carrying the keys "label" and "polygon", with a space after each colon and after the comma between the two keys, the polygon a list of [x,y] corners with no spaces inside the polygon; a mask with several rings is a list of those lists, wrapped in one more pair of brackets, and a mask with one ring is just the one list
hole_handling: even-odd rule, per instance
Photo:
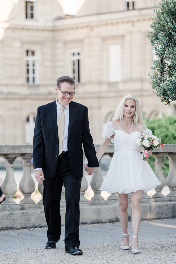
{"label": "tall window directly above the man's head", "polygon": [[80,51],[70,53],[70,75],[75,79],[75,83],[80,82]]}

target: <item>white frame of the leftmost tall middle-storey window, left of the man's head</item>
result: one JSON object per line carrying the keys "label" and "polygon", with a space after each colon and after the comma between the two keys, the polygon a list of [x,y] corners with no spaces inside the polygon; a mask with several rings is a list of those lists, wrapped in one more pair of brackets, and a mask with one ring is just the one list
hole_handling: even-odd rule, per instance
{"label": "white frame of the leftmost tall middle-storey window, left of the man's head", "polygon": [[[28,51],[28,56],[26,54],[26,57],[25,57],[25,62],[26,62],[26,83],[27,84],[38,84],[37,51],[36,50],[26,50],[26,53],[27,53],[27,51]],[[32,56],[32,51],[35,52],[34,56]],[[27,66],[27,63],[28,63],[29,66]],[[29,69],[29,73],[27,72],[28,69]],[[33,73],[33,70],[35,71],[35,73]],[[29,82],[27,80],[27,77],[29,77]],[[33,78],[35,78],[35,81],[33,80]]]}

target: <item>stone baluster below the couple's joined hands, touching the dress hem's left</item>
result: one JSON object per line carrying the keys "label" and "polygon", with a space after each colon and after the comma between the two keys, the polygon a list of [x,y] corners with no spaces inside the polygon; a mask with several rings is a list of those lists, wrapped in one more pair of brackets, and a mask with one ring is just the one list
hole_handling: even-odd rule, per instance
{"label": "stone baluster below the couple's joined hands, touching the dress hem's left", "polygon": [[94,196],[91,199],[92,203],[94,203],[94,202],[96,203],[97,200],[98,200],[98,202],[107,201],[107,200],[104,200],[103,197],[101,197],[101,195],[100,195],[101,191],[99,189],[100,189],[102,182],[103,182],[103,177],[101,174],[101,163],[99,161],[99,167],[97,168],[96,172],[93,173],[93,176],[92,176],[92,179],[90,182],[90,186],[91,186],[92,190],[94,191]]}

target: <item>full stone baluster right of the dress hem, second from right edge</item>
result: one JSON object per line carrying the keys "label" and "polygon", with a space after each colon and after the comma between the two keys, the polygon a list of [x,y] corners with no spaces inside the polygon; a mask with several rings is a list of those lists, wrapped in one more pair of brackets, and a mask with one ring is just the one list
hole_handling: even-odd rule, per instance
{"label": "full stone baluster right of the dress hem, second from right edge", "polygon": [[154,198],[155,202],[166,202],[169,199],[166,199],[165,195],[161,193],[163,187],[166,184],[163,172],[162,172],[162,163],[163,163],[163,157],[164,153],[158,152],[158,153],[153,153],[155,157],[155,175],[158,178],[158,180],[161,182],[160,185],[156,186],[155,191],[156,194],[152,196]]}

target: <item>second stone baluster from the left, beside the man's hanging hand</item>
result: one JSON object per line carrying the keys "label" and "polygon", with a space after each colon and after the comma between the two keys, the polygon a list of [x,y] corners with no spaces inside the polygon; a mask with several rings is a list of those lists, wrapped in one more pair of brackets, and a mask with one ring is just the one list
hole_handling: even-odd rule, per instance
{"label": "second stone baluster from the left, beside the man's hanging hand", "polygon": [[[30,207],[29,205],[34,204],[35,202],[31,199],[32,192],[35,191],[35,182],[31,176],[31,159],[32,154],[21,154],[23,160],[23,175],[19,184],[19,189],[24,195],[23,200],[20,202],[21,207]],[[28,206],[25,206],[28,205]]]}

